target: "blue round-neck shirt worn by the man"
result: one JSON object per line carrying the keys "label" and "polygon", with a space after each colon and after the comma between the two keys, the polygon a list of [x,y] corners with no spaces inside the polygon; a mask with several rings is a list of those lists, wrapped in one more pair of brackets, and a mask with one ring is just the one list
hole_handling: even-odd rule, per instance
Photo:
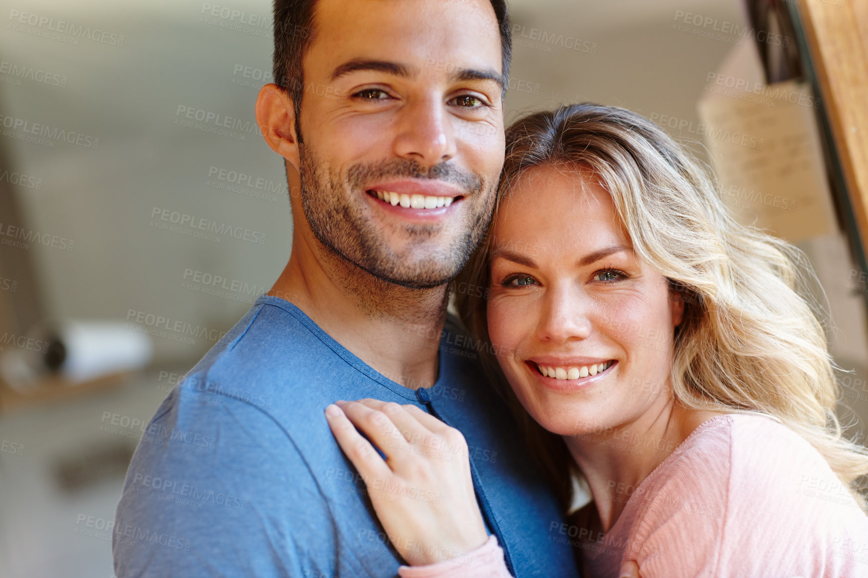
{"label": "blue round-neck shirt worn by the man", "polygon": [[483,518],[513,575],[577,575],[569,542],[552,530],[563,522],[556,500],[474,345],[448,321],[437,383],[412,390],[295,305],[261,297],[145,428],[115,516],[115,574],[397,575],[403,561],[324,415],[338,399],[375,397],[416,404],[464,433]]}

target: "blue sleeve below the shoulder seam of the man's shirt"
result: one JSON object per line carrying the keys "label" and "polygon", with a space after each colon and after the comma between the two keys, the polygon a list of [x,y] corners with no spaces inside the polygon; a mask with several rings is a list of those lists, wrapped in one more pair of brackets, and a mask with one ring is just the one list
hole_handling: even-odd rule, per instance
{"label": "blue sleeve below the shoulder seam of the man's shirt", "polygon": [[115,516],[116,574],[274,575],[303,553],[262,536],[291,535],[303,516],[323,525],[325,540],[328,508],[279,424],[252,404],[176,389],[129,465]]}

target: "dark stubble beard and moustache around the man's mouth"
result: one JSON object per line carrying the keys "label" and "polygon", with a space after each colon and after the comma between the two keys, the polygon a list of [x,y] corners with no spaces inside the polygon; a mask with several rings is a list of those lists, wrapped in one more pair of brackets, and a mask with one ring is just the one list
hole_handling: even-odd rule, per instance
{"label": "dark stubble beard and moustache around the man's mouth", "polygon": [[[301,207],[313,235],[326,251],[369,273],[374,278],[371,279],[374,284],[378,280],[409,289],[431,289],[446,285],[470,258],[470,253],[476,248],[492,218],[495,200],[492,189],[496,187],[496,181],[485,183],[478,175],[445,163],[430,169],[416,161],[404,159],[359,163],[349,167],[346,174],[342,175],[325,167],[311,148],[301,143],[299,160]],[[475,203],[471,208],[475,208],[476,212],[468,211],[461,223],[401,226],[405,239],[409,241],[404,249],[407,254],[395,253],[385,243],[383,233],[365,219],[361,207],[366,200],[361,195],[367,194],[362,188],[365,183],[383,177],[402,176],[457,184],[467,192],[462,202]],[[449,235],[450,230],[458,229],[460,233]],[[444,241],[445,246],[435,246],[433,251],[431,247],[423,247],[425,241],[438,233],[449,236]],[[429,256],[420,258],[418,253],[424,252],[429,253]]]}

